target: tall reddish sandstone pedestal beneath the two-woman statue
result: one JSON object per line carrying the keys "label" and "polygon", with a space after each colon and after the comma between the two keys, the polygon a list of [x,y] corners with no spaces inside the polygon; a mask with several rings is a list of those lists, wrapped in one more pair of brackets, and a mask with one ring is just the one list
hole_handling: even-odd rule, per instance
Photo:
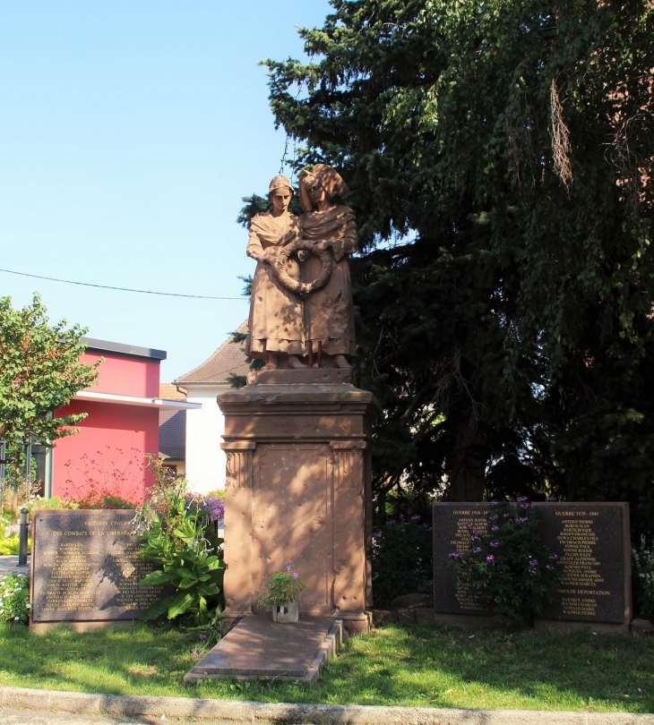
{"label": "tall reddish sandstone pedestal beneath the two-woman statue", "polygon": [[218,403],[228,457],[222,616],[264,613],[263,585],[290,566],[306,584],[301,618],[365,631],[373,395],[351,385],[349,371],[262,371]]}

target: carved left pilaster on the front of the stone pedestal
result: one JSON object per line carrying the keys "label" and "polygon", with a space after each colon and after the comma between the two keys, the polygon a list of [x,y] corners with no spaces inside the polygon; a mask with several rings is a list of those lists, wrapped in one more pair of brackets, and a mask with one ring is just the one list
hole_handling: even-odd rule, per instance
{"label": "carved left pilaster on the front of the stone pedestal", "polygon": [[252,613],[252,455],[253,440],[221,443],[227,454],[225,482],[225,612],[228,619]]}

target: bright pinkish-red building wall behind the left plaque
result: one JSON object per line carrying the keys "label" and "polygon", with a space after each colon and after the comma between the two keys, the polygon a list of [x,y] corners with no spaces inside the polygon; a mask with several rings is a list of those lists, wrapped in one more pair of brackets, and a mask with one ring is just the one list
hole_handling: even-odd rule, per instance
{"label": "bright pinkish-red building wall behind the left plaque", "polygon": [[[91,393],[159,397],[159,360],[91,351],[82,355],[82,361],[96,362],[100,357],[104,362],[98,384],[86,388]],[[145,454],[159,453],[159,408],[77,398],[55,416],[76,413],[88,416],[77,426],[78,433],[56,440],[51,495],[79,500],[102,490],[141,502],[154,484]]]}

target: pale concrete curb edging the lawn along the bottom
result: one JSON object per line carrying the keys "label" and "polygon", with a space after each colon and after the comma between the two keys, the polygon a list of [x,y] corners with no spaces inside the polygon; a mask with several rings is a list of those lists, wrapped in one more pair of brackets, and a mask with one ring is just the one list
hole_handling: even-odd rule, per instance
{"label": "pale concrete curb edging the lawn along the bottom", "polygon": [[166,719],[196,718],[235,723],[314,725],[654,725],[654,715],[629,712],[529,710],[436,710],[424,707],[254,703],[147,695],[87,695],[80,692],[0,687],[0,710],[70,712],[77,715]]}

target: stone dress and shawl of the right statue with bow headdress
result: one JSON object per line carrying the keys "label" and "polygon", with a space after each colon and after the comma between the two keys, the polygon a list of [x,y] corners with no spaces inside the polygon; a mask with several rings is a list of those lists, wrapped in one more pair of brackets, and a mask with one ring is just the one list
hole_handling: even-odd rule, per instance
{"label": "stone dress and shawl of the right statue with bow headdress", "polygon": [[[331,240],[333,266],[329,282],[305,297],[305,339],[323,343],[323,352],[331,355],[356,354],[352,283],[347,254],[357,252],[357,221],[354,211],[342,204],[327,211],[306,211],[300,217],[302,238],[312,242]],[[302,265],[302,281],[311,282],[320,275],[321,261],[311,255]]]}

